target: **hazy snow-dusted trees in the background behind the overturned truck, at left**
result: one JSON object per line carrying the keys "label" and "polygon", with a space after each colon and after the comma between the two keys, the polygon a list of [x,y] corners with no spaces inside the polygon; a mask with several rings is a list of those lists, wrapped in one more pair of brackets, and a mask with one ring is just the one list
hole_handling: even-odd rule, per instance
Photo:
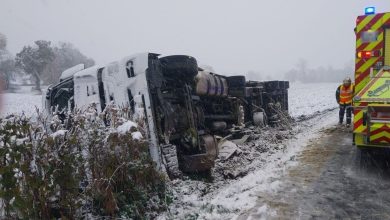
{"label": "hazy snow-dusted trees in the background behind the overturned truck, at left", "polygon": [[7,37],[0,33],[0,77],[5,89],[16,75],[30,75],[34,89],[40,91],[41,83],[57,83],[64,70],[80,63],[90,67],[95,61],[68,42],[53,45],[50,41],[37,40],[14,56],[7,49]]}

